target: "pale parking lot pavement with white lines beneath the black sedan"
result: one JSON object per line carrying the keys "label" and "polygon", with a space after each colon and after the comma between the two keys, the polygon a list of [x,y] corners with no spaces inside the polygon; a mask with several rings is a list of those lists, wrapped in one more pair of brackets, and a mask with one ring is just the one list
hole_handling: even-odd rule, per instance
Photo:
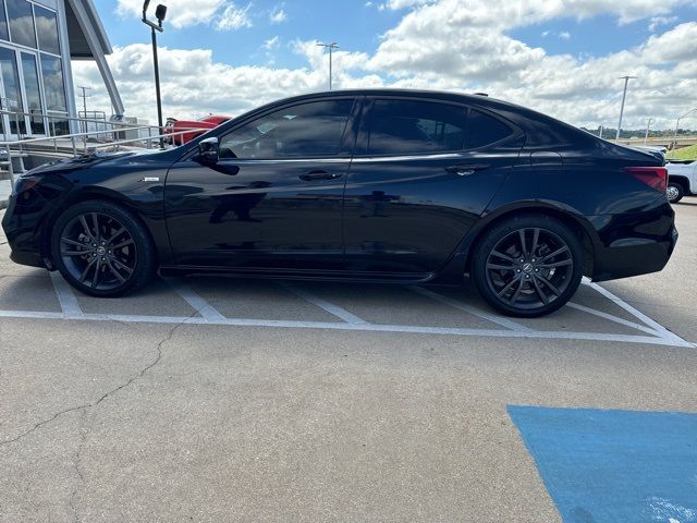
{"label": "pale parking lot pavement with white lines beneath the black sedan", "polygon": [[[174,278],[97,300],[0,236],[0,521],[607,521],[530,427],[697,413],[697,198],[676,212],[663,272],[533,320],[438,287]],[[640,521],[697,521],[651,488]]]}

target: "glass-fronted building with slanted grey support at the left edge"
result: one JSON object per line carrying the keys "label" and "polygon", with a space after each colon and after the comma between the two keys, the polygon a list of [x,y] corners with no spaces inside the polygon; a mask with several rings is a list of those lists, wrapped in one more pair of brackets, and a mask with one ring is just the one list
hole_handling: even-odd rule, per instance
{"label": "glass-fronted building with slanted grey support at the left edge", "polygon": [[0,0],[0,139],[80,132],[71,60],[94,60],[114,114],[123,104],[91,0]]}

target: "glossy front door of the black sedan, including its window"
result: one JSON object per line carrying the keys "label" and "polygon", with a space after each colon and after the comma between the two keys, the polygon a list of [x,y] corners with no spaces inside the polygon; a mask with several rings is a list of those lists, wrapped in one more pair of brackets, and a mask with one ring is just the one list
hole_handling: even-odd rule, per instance
{"label": "glossy front door of the black sedan, including its window", "polygon": [[223,133],[217,163],[196,155],[175,163],[164,202],[178,265],[341,268],[355,105],[338,97],[273,110]]}

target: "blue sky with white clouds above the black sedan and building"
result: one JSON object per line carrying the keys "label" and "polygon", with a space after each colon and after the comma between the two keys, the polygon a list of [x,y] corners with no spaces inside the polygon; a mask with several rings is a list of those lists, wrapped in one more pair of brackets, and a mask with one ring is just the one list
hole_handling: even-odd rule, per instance
{"label": "blue sky with white clouds above the black sedan and building", "polygon": [[[152,0],[150,12],[155,12]],[[673,129],[697,107],[697,0],[161,0],[164,117],[236,115],[328,88],[488,93],[574,125]],[[95,0],[126,115],[157,120],[142,0]],[[94,62],[74,62],[109,111]],[[82,107],[82,101],[80,102]],[[694,120],[694,121],[693,121]],[[697,113],[685,126],[697,127]],[[681,123],[681,126],[682,123]]]}

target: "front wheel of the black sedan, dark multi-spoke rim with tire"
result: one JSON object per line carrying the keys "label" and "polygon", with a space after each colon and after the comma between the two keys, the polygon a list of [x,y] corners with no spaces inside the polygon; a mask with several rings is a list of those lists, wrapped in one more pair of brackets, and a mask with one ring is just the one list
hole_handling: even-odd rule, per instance
{"label": "front wheel of the black sedan, dark multi-spoke rim with tire", "polygon": [[130,211],[103,200],[77,203],[58,218],[51,256],[71,285],[99,297],[134,292],[156,270],[148,231]]}

